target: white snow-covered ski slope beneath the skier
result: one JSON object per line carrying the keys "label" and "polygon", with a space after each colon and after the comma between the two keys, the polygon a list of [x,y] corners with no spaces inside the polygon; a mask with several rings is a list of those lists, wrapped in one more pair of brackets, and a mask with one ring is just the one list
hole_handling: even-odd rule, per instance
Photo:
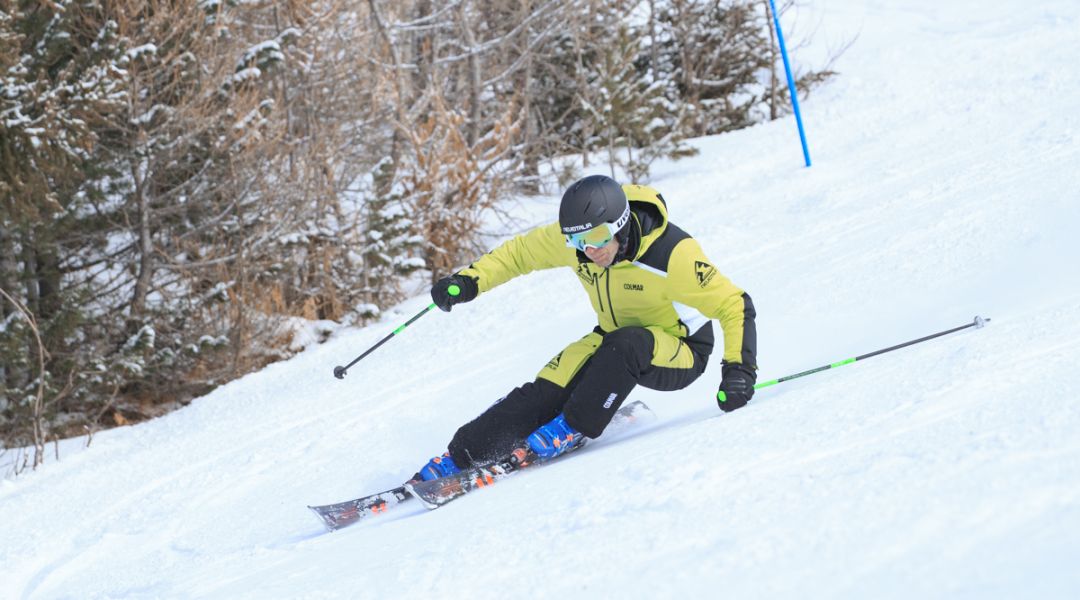
{"label": "white snow-covered ski slope beneath the skier", "polygon": [[0,481],[0,598],[1080,597],[1080,4],[814,5],[860,35],[804,105],[814,166],[784,120],[650,182],[754,296],[762,379],[988,327],[731,414],[715,366],[637,390],[642,435],[325,534],[306,504],[399,483],[593,325],[537,273],[333,379],[418,297]]}

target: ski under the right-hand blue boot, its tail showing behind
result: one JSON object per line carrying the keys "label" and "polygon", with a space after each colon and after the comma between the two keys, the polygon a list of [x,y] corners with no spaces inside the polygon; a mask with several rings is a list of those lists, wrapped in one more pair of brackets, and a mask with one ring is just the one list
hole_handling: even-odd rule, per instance
{"label": "ski under the right-hand blue boot, its tail showing behind", "polygon": [[[616,412],[615,418],[611,419],[611,423],[608,425],[607,429],[605,429],[605,433],[617,433],[626,425],[640,422],[645,417],[652,417],[652,411],[649,410],[649,407],[647,407],[645,403],[635,400],[620,408]],[[588,441],[588,438],[583,439],[578,446],[569,449],[566,453],[562,454],[562,456],[580,450],[586,445]],[[457,475],[440,477],[438,479],[432,479],[430,481],[409,481],[405,483],[404,488],[408,490],[409,494],[419,500],[426,508],[434,509],[453,502],[471,491],[491,486],[496,481],[509,477],[523,468],[535,464],[545,464],[548,462],[550,461],[541,459],[528,447],[522,447],[511,452],[510,456],[492,464],[483,467],[469,468],[458,473]]]}

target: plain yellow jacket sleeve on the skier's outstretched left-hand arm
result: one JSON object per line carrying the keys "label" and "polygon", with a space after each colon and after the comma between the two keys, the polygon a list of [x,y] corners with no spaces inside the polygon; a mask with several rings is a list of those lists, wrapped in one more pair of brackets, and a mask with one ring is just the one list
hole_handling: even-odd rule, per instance
{"label": "plain yellow jacket sleeve on the skier's outstretched left-hand arm", "polygon": [[483,294],[518,275],[541,269],[572,267],[577,262],[577,253],[566,245],[555,222],[504,242],[460,273],[474,277],[477,289]]}

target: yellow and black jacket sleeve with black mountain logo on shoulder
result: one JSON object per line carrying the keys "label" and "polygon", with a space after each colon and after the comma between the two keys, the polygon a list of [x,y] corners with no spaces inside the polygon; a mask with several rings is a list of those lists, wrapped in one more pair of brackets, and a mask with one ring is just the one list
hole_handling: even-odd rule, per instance
{"label": "yellow and black jacket sleeve with black mountain logo on shoulder", "polygon": [[757,369],[757,327],[750,295],[725,277],[696,240],[675,246],[669,262],[672,298],[720,322],[724,362]]}

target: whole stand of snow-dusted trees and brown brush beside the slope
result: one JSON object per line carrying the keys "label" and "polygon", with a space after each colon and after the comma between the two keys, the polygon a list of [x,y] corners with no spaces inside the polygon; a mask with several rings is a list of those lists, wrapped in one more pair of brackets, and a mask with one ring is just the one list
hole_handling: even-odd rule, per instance
{"label": "whole stand of snow-dusted trees and brown brush beside the slope", "polygon": [[545,163],[644,181],[783,111],[773,63],[747,0],[0,0],[0,440],[375,318]]}

